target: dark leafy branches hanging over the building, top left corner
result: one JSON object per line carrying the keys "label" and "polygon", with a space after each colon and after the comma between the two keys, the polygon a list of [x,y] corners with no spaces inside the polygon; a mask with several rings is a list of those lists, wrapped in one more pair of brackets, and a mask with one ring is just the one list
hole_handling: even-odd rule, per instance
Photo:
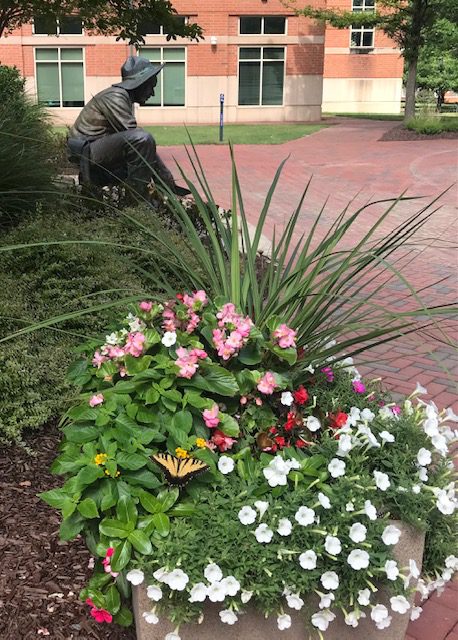
{"label": "dark leafy branches hanging over the building, top left corner", "polygon": [[78,14],[85,29],[144,44],[146,25],[162,25],[167,38],[202,38],[197,24],[184,24],[170,0],[0,0],[0,38],[34,16],[56,19]]}

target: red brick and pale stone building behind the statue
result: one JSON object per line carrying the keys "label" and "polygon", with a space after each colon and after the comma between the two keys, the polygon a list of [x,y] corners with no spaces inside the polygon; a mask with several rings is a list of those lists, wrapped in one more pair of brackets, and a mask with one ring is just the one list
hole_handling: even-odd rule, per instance
{"label": "red brick and pale stone building behind the statue", "polygon": [[[354,9],[373,2],[314,4],[339,1]],[[140,54],[167,64],[151,103],[137,109],[140,124],[217,122],[220,94],[226,122],[318,120],[323,91],[325,110],[399,111],[402,63],[383,35],[372,47],[366,34],[350,42],[349,30],[325,32],[279,0],[175,0],[174,7],[201,25],[205,40],[167,41],[150,25]],[[118,81],[129,53],[115,37],[86,33],[76,16],[51,24],[37,17],[0,40],[0,62],[20,69],[59,123],[73,122],[91,96]]]}

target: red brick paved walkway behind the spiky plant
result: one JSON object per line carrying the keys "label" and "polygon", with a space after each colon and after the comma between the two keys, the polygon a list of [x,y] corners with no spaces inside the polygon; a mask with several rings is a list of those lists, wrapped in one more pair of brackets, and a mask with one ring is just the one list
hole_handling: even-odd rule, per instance
{"label": "red brick paved walkway behind the spiky plant", "polygon": [[[236,147],[237,167],[250,222],[256,223],[261,203],[281,160],[289,155],[272,201],[265,227],[270,236],[274,226],[282,227],[298,203],[308,179],[313,176],[301,213],[299,228],[306,230],[328,199],[323,222],[331,224],[354,198],[352,209],[368,201],[390,198],[407,190],[409,196],[425,196],[418,202],[403,202],[384,230],[392,228],[456,183],[458,151],[456,140],[418,142],[380,142],[389,122],[342,120],[340,124],[281,146],[240,145]],[[230,160],[227,147],[200,146],[199,157],[215,199],[230,206]],[[172,166],[175,158],[190,175],[182,148],[162,149],[161,155]],[[178,175],[178,171],[176,171]],[[441,208],[416,236],[415,264],[407,264],[403,274],[417,291],[427,284],[447,278],[424,292],[429,304],[456,302],[458,239],[455,186],[441,199]],[[374,222],[380,207],[364,214],[361,233]],[[349,238],[354,242],[356,237]],[[389,295],[396,295],[390,288]],[[399,293],[399,292],[398,292]],[[447,328],[448,338],[457,338],[456,324]],[[437,332],[435,332],[437,336]],[[410,393],[418,380],[427,387],[429,397],[439,407],[452,406],[458,413],[456,379],[458,357],[451,343],[438,343],[433,337],[403,337],[387,347],[374,350],[373,362],[366,364],[367,375],[383,375],[387,385],[401,393]],[[458,640],[458,582],[441,597],[433,596],[423,604],[423,615],[409,626],[405,640]],[[368,638],[368,640],[370,640]]]}

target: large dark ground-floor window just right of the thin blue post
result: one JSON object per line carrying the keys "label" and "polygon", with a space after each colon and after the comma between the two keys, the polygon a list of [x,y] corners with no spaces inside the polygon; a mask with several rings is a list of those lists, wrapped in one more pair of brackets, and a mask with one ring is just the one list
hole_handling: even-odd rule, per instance
{"label": "large dark ground-floor window just right of the thin blue post", "polygon": [[239,105],[282,105],[284,47],[240,47]]}

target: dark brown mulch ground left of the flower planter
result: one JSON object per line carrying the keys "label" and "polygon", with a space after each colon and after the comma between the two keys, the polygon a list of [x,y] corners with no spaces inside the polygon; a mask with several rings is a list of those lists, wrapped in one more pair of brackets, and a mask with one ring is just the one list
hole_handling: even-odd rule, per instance
{"label": "dark brown mulch ground left of the flower planter", "polygon": [[100,625],[78,599],[90,570],[82,539],[59,540],[59,515],[36,494],[62,483],[49,466],[60,435],[50,426],[27,440],[36,451],[0,456],[0,638],[134,640],[133,630]]}

